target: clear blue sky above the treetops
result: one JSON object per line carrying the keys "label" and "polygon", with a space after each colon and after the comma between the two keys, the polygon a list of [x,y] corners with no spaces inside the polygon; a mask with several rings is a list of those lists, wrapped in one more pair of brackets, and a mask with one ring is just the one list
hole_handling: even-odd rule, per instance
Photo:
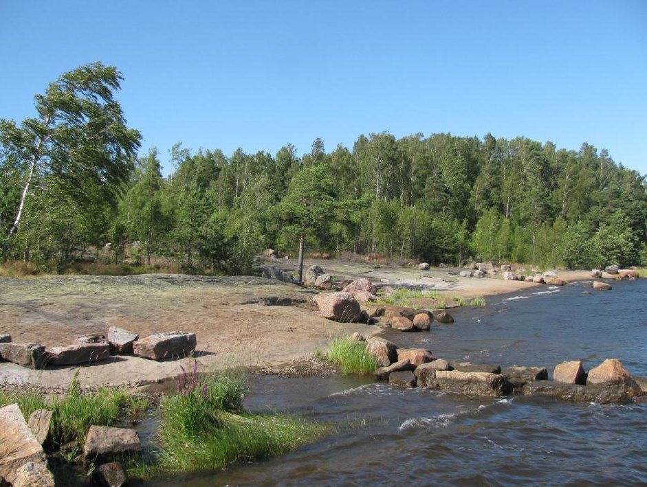
{"label": "clear blue sky above the treetops", "polygon": [[647,173],[644,0],[0,0],[0,46],[0,117],[100,60],[163,163],[176,141],[303,154],[316,137],[490,132],[589,141]]}

